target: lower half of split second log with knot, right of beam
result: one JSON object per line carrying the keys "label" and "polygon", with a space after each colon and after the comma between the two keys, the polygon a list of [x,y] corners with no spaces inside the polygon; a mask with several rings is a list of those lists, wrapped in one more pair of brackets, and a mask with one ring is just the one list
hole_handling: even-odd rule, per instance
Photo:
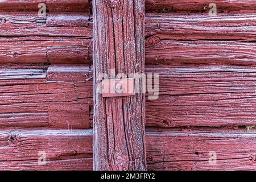
{"label": "lower half of split second log with knot, right of beam", "polygon": [[256,65],[254,43],[231,41],[180,41],[151,36],[146,39],[146,64]]}

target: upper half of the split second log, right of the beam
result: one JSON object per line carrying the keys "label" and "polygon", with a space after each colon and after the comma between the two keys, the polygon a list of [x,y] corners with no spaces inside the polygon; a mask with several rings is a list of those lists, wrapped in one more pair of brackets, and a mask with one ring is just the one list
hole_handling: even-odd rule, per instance
{"label": "upper half of the split second log, right of the beam", "polygon": [[[255,19],[255,14],[147,14],[145,35],[177,40],[255,41]],[[152,44],[158,41],[150,39]]]}

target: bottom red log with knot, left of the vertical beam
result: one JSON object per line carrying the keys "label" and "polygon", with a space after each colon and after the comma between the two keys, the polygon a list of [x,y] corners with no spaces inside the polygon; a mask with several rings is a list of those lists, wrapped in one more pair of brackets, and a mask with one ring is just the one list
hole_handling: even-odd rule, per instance
{"label": "bottom red log with knot, left of the vertical beam", "polygon": [[0,145],[1,170],[92,169],[91,130],[1,130]]}

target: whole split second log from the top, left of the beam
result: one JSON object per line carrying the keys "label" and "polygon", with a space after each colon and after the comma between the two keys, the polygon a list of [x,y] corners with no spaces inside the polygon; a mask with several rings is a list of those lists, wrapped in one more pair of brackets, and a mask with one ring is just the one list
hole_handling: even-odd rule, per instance
{"label": "whole split second log from the top, left of the beam", "polygon": [[92,27],[85,14],[3,14],[1,63],[89,64]]}

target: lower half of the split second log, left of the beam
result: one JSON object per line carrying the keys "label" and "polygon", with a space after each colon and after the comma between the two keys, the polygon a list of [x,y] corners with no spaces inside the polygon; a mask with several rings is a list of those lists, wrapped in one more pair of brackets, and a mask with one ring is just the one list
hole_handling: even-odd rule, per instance
{"label": "lower half of the split second log, left of the beam", "polygon": [[[31,40],[32,39],[32,40]],[[1,63],[89,64],[90,39],[3,38]]]}

